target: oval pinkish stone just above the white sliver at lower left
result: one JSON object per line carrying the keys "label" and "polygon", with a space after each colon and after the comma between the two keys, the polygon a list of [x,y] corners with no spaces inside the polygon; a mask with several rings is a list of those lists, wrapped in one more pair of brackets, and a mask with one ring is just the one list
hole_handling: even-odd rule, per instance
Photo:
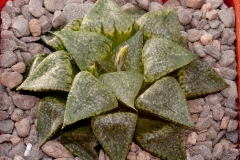
{"label": "oval pinkish stone just above the white sliver at lower left", "polygon": [[30,131],[30,122],[27,118],[21,119],[15,123],[17,134],[19,137],[26,137]]}

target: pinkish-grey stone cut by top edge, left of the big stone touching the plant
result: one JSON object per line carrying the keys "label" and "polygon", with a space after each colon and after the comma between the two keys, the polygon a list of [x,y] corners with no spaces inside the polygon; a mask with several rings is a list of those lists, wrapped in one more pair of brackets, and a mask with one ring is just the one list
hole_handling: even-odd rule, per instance
{"label": "pinkish-grey stone cut by top edge, left of the big stone touching the plant", "polygon": [[63,0],[44,0],[44,6],[49,12],[61,11],[64,7]]}

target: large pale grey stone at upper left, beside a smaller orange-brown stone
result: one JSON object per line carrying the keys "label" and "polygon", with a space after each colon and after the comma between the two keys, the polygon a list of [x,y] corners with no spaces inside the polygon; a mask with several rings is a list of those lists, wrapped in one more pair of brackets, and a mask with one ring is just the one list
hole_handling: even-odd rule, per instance
{"label": "large pale grey stone at upper left, beside a smaller orange-brown stone", "polygon": [[23,15],[15,17],[12,20],[12,31],[16,37],[24,37],[30,34],[28,20]]}

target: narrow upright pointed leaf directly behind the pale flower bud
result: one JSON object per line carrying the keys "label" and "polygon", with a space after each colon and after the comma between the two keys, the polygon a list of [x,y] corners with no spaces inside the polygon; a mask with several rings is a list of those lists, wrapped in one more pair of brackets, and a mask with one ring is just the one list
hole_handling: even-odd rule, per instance
{"label": "narrow upright pointed leaf directly behind the pale flower bud", "polygon": [[[113,53],[123,47],[128,46],[128,54],[124,63],[124,69],[126,71],[137,71],[142,73],[142,48],[143,48],[143,32],[139,30],[134,36],[120,44],[113,50]],[[113,60],[116,55],[113,54]]]}

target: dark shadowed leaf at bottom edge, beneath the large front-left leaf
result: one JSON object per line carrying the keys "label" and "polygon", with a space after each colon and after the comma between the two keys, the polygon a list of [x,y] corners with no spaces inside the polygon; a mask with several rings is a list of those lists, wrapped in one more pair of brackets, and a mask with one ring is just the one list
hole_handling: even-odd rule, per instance
{"label": "dark shadowed leaf at bottom edge, beneath the large front-left leaf", "polygon": [[98,141],[90,125],[64,131],[61,135],[61,143],[74,156],[83,160],[98,159],[98,153],[94,148],[98,145]]}

